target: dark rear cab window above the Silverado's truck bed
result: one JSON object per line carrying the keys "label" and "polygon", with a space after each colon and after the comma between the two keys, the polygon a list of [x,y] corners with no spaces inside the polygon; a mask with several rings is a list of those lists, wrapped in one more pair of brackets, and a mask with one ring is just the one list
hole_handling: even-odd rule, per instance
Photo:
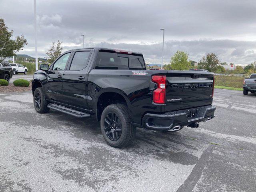
{"label": "dark rear cab window above the Silverado's truck bed", "polygon": [[136,69],[145,70],[142,55],[122,54],[111,50],[100,50],[96,59],[95,69]]}

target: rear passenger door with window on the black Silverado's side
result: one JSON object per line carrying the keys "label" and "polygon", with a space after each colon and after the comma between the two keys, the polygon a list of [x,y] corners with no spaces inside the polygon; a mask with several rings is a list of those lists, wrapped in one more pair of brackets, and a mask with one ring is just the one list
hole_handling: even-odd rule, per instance
{"label": "rear passenger door with window on the black Silverado's side", "polygon": [[74,51],[63,74],[63,103],[86,109],[86,79],[92,50]]}

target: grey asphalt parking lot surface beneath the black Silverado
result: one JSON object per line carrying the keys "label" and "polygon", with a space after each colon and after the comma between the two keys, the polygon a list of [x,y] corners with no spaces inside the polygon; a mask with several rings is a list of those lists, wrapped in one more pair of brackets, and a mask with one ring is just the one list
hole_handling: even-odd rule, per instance
{"label": "grey asphalt parking lot surface beneath the black Silverado", "polygon": [[138,129],[131,146],[116,149],[92,118],[37,114],[30,92],[0,94],[0,192],[254,192],[255,101],[216,89],[210,122]]}

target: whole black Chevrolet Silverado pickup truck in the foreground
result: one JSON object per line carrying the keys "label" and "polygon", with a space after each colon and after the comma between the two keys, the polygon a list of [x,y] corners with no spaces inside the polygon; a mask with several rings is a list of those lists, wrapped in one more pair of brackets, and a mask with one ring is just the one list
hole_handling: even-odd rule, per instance
{"label": "whole black Chevrolet Silverado pickup truck in the foreground", "polygon": [[213,73],[146,70],[141,53],[107,48],[67,51],[32,80],[38,113],[95,116],[114,147],[130,144],[136,127],[174,132],[209,121],[213,92]]}

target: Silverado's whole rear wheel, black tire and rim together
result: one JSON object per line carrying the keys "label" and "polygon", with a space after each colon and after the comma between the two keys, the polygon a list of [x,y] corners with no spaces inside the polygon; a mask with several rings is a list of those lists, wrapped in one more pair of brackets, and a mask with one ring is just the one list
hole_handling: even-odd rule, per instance
{"label": "Silverado's whole rear wheel, black tire and rim together", "polygon": [[129,145],[136,134],[130,123],[128,108],[124,104],[111,104],[101,115],[100,127],[106,142],[116,148]]}

